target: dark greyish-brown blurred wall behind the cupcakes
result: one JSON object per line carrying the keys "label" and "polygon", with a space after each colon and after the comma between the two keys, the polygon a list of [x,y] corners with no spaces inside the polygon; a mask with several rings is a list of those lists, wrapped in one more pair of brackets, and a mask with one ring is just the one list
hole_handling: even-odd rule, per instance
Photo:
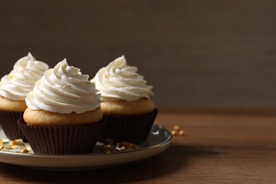
{"label": "dark greyish-brown blurred wall behind the cupcakes", "polygon": [[28,51],[91,77],[125,54],[157,104],[276,107],[276,1],[1,1],[0,74]]}

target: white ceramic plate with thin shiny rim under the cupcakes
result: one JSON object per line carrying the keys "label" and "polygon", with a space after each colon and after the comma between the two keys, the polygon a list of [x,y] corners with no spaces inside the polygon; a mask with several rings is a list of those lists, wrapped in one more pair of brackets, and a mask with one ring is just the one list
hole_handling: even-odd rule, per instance
{"label": "white ceramic plate with thin shiny rim under the cupcakes", "polygon": [[[0,138],[5,138],[1,130]],[[0,162],[28,168],[57,171],[108,168],[160,154],[171,145],[171,140],[170,131],[159,125],[154,125],[146,142],[139,144],[140,149],[133,151],[103,154],[100,143],[96,144],[92,154],[47,156],[0,151]]]}

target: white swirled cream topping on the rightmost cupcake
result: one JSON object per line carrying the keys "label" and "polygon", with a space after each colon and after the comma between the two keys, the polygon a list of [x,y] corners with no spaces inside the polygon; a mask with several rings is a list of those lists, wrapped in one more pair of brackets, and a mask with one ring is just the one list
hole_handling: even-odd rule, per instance
{"label": "white swirled cream topping on the rightmost cupcake", "polygon": [[102,100],[138,100],[153,95],[152,86],[146,85],[144,76],[137,74],[137,67],[127,65],[125,56],[110,62],[92,79],[100,90]]}

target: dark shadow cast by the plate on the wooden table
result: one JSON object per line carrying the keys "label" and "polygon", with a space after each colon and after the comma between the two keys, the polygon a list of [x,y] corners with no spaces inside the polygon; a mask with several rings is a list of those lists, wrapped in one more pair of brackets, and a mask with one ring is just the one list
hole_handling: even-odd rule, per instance
{"label": "dark shadow cast by the plate on the wooden table", "polygon": [[191,164],[192,157],[217,156],[217,151],[203,150],[199,146],[173,145],[162,154],[127,163],[114,168],[91,171],[37,171],[5,163],[0,164],[0,176],[11,176],[11,181],[64,183],[131,183],[166,176]]}

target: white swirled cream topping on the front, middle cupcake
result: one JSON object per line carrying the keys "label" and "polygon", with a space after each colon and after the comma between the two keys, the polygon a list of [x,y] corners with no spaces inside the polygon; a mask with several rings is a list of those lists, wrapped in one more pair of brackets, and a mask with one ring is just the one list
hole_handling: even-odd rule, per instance
{"label": "white swirled cream topping on the front, middle cupcake", "polygon": [[100,94],[88,75],[69,67],[67,60],[48,69],[28,93],[26,104],[32,110],[52,113],[85,113],[100,108]]}

